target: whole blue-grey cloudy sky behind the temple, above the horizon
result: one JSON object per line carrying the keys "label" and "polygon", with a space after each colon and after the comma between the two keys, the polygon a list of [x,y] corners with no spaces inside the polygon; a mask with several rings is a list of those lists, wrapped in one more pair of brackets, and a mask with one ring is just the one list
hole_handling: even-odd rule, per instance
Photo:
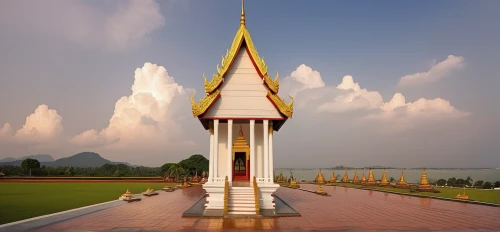
{"label": "whole blue-grey cloudy sky behind the temple, above the horizon", "polygon": [[[250,1],[294,115],[275,167],[500,167],[499,1]],[[0,158],[208,157],[189,98],[240,1],[1,1]],[[288,100],[287,100],[288,101]]]}

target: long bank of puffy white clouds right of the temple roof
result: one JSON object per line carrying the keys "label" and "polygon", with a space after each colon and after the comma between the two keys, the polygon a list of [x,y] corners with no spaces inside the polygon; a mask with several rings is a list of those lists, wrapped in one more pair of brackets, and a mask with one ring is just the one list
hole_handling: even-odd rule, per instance
{"label": "long bank of puffy white clouds right of the temple roof", "polygon": [[284,80],[284,85],[297,95],[298,107],[307,112],[339,114],[356,111],[357,118],[351,118],[353,121],[359,119],[380,124],[390,131],[414,128],[421,123],[461,119],[469,115],[441,98],[420,98],[407,103],[403,94],[396,93],[389,102],[384,103],[379,92],[361,88],[352,76],[344,76],[337,87],[326,86],[320,73],[305,65],[299,66],[292,74]]}

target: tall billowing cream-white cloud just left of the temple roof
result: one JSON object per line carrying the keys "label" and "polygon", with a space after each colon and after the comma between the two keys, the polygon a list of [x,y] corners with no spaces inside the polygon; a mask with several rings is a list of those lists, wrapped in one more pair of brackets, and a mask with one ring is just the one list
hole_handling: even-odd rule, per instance
{"label": "tall billowing cream-white cloud just left of the temple roof", "polygon": [[116,102],[109,125],[101,131],[84,131],[72,143],[112,149],[154,148],[174,140],[192,145],[182,140],[179,118],[174,116],[177,104],[189,104],[187,90],[156,64],[145,63],[135,70],[134,78],[132,94]]}

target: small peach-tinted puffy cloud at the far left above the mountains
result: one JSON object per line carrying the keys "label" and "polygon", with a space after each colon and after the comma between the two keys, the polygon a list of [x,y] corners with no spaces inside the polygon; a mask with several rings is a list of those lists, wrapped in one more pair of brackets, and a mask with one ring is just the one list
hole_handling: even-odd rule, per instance
{"label": "small peach-tinted puffy cloud at the far left above the mountains", "polygon": [[12,127],[5,123],[0,129],[2,140],[14,139],[21,143],[39,144],[59,138],[63,131],[62,117],[47,105],[39,105],[35,112],[26,117],[23,127],[12,137]]}

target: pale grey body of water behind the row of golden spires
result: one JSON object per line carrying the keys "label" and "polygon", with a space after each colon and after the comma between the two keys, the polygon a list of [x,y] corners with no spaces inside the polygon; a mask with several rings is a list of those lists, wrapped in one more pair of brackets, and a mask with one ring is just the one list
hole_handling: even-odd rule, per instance
{"label": "pale grey body of water behind the row of golden spires", "polygon": [[[319,169],[298,169],[298,168],[276,168],[274,169],[274,175],[279,175],[280,172],[283,171],[284,176],[290,176],[290,171],[293,173],[293,177],[297,179],[297,181],[301,181],[302,179],[306,181],[313,181],[318,174]],[[342,169],[321,169],[323,176],[327,181],[330,180],[332,176],[332,171],[335,172],[335,176],[337,176],[337,180],[342,179],[346,170]],[[363,172],[365,173],[366,178],[368,178],[368,169],[358,169],[358,176],[361,179],[363,176]],[[391,177],[397,181],[401,176],[401,169],[387,169],[387,179],[389,180]],[[427,179],[429,181],[434,181],[438,179],[445,179],[455,177],[457,179],[467,179],[468,176],[472,178],[472,180],[478,181],[489,181],[491,183],[495,181],[500,181],[500,169],[452,169],[452,170],[438,170],[438,169],[427,169]],[[352,180],[354,177],[355,170],[347,170],[347,175],[349,175],[349,180]],[[383,169],[373,169],[373,175],[375,179],[382,179]],[[420,177],[422,176],[422,169],[404,169],[405,180],[408,183],[418,183],[420,181]]]}

